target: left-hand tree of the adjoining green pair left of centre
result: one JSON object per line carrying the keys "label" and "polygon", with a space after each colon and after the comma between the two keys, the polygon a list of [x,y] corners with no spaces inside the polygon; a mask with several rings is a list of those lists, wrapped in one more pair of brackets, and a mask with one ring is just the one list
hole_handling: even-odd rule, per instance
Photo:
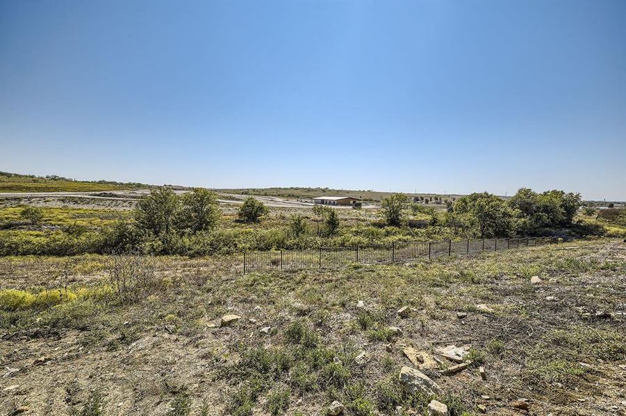
{"label": "left-hand tree of the adjoining green pair left of centre", "polygon": [[135,221],[140,229],[155,236],[163,236],[174,231],[176,214],[180,208],[178,196],[170,188],[152,189],[150,195],[137,203]]}

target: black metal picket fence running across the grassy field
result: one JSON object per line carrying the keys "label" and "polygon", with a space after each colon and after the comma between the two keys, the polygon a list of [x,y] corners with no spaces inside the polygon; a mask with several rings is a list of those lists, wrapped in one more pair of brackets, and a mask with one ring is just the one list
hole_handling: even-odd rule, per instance
{"label": "black metal picket fence running across the grassy field", "polygon": [[265,270],[298,270],[331,268],[352,263],[385,264],[436,259],[437,257],[471,256],[517,248],[555,243],[558,237],[526,237],[523,239],[481,239],[462,241],[431,241],[428,243],[394,243],[368,247],[320,247],[303,250],[244,252],[243,272]]}

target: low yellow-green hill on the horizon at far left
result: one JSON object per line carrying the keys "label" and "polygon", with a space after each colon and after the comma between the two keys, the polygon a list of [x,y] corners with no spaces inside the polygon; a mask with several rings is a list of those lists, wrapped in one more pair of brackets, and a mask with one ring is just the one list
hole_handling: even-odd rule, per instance
{"label": "low yellow-green hill on the horizon at far left", "polygon": [[42,177],[0,172],[0,192],[92,192],[147,187],[150,185],[136,182],[82,181],[57,175]]}

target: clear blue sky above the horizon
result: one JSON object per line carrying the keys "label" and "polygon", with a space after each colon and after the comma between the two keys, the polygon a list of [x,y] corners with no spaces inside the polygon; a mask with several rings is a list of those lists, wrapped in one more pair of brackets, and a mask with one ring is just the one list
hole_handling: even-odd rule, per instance
{"label": "clear blue sky above the horizon", "polygon": [[0,170],[626,198],[625,1],[0,1]]}

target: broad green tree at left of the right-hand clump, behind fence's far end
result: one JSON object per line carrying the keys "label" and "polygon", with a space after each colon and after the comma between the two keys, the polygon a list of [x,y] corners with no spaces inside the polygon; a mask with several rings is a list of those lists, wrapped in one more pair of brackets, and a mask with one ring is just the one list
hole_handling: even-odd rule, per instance
{"label": "broad green tree at left of the right-hand clump, behind fence's far end", "polygon": [[[471,193],[456,200],[454,212],[477,226],[481,239],[508,236],[513,231],[513,210],[504,200],[483,192]],[[468,218],[469,217],[469,218]]]}

